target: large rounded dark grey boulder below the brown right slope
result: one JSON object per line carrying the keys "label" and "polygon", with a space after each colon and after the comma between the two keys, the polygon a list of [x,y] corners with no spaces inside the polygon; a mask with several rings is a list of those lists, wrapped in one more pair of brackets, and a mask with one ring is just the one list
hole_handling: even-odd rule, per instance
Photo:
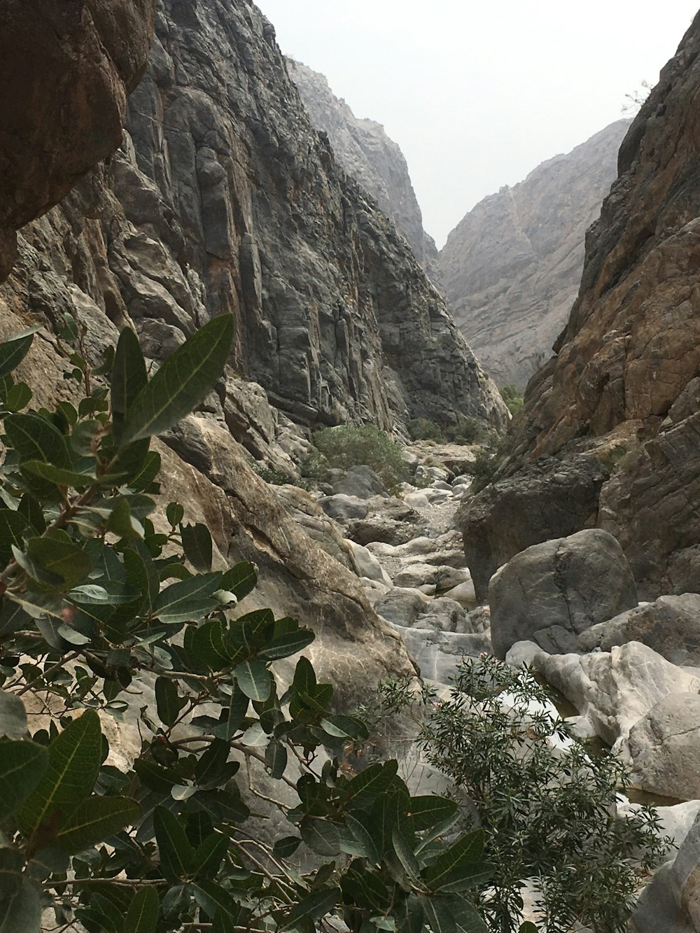
{"label": "large rounded dark grey boulder below the brown right slope", "polygon": [[558,654],[575,651],[592,625],[637,606],[637,588],[616,539],[591,528],[516,554],[491,578],[489,605],[497,658],[518,641]]}

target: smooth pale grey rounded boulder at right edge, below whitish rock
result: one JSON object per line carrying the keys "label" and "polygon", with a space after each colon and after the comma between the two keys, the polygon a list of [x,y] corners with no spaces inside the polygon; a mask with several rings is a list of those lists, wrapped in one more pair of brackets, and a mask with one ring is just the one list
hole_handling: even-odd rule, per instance
{"label": "smooth pale grey rounded boulder at right edge, below whitish rock", "polygon": [[640,787],[665,797],[700,799],[700,696],[670,693],[630,730]]}

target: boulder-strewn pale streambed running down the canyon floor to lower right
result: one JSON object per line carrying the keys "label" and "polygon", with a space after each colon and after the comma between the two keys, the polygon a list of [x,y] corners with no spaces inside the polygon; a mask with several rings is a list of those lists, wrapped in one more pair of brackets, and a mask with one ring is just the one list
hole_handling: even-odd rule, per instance
{"label": "boulder-strewn pale streambed running down the canyon floor to lower right", "polygon": [[[386,493],[359,466],[309,495],[285,487],[305,530],[357,574],[421,676],[449,685],[465,656],[532,664],[576,707],[581,737],[612,746],[679,846],[639,901],[632,933],[697,933],[700,912],[700,594],[637,604],[616,540],[591,529],[536,545],[476,606],[455,511],[469,495],[467,448],[409,450],[412,485]],[[638,804],[622,799],[624,815]],[[694,901],[689,901],[694,898]]]}

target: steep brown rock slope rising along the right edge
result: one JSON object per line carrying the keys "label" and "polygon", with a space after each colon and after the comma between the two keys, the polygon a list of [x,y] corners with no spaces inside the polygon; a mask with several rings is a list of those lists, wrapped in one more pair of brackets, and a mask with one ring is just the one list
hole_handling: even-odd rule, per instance
{"label": "steep brown rock slope rising along the right edge", "polygon": [[699,105],[700,14],[623,140],[619,176],[586,238],[579,299],[528,385],[499,474],[508,478],[462,516],[493,569],[535,543],[513,515],[536,483],[550,517],[536,533],[558,536],[548,504],[555,491],[566,498],[567,470],[593,456],[605,475],[579,527],[618,537],[645,596],[700,590]]}

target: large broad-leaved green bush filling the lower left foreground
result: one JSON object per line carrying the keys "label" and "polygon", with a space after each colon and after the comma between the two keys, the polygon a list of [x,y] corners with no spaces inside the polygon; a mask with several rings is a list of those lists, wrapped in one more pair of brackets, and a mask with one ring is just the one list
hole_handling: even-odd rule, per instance
{"label": "large broad-leaved green bush filling the lower left foreground", "polygon": [[[1,933],[35,933],[48,908],[56,930],[90,933],[313,933],[332,917],[361,933],[483,933],[469,901],[490,874],[483,830],[445,841],[455,801],[412,796],[395,760],[351,768],[364,723],[335,710],[305,657],[286,689],[273,675],[314,634],[241,613],[255,566],[214,570],[207,528],[181,505],[153,521],[150,439],[214,387],[231,317],[151,378],[131,330],[91,370],[69,320],[82,397],[50,410],[29,409],[12,376],[36,329],[0,344]],[[48,728],[30,734],[25,702]],[[106,763],[109,717],[139,730],[130,768]],[[277,810],[288,831],[272,843]]]}

